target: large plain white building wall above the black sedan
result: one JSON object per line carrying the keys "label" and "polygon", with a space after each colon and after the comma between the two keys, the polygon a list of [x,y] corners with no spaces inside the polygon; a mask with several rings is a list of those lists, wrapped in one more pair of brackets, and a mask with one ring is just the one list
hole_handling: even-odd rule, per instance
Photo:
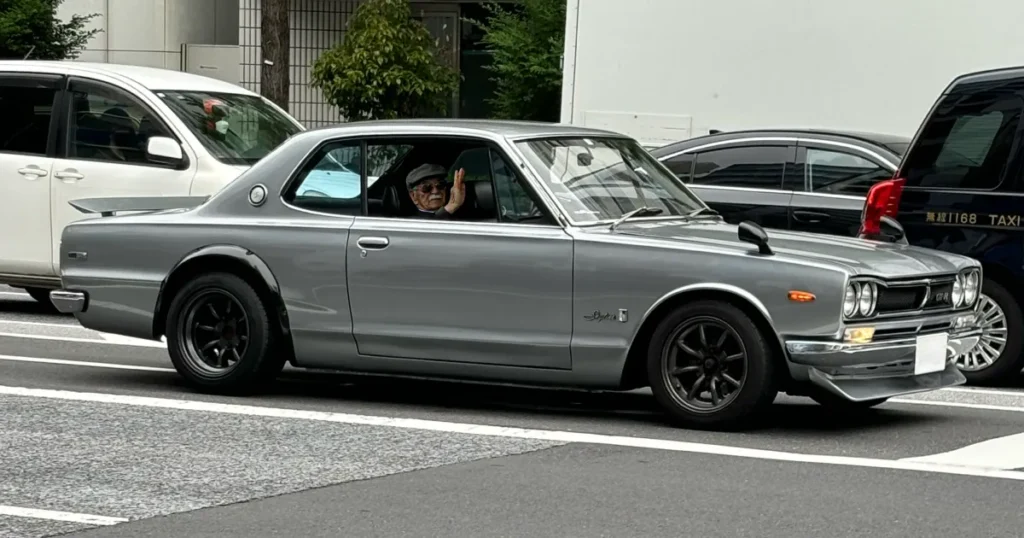
{"label": "large plain white building wall above the black sedan", "polygon": [[774,126],[912,134],[955,76],[1024,64],[1021,0],[568,2],[562,120],[663,141]]}

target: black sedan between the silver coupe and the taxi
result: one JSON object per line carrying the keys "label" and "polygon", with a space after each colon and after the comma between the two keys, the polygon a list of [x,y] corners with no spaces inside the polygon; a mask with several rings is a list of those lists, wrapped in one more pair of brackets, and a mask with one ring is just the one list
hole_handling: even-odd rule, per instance
{"label": "black sedan between the silver coupe and the taxi", "polygon": [[651,151],[729,222],[855,236],[868,189],[906,136],[818,129],[716,132]]}

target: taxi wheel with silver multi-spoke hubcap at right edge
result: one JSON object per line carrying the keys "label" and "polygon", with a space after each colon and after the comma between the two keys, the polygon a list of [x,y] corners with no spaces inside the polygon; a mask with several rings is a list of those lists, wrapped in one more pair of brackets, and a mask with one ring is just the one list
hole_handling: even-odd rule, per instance
{"label": "taxi wheel with silver multi-spoke hubcap at right edge", "polygon": [[[1005,286],[993,279],[985,279],[978,298],[980,323],[984,330],[982,339],[970,353],[956,358],[956,366],[967,384],[1000,386],[1015,383],[1024,369],[1022,337],[1024,337],[1024,315],[1016,297]],[[1005,342],[991,340],[1004,338]],[[1001,348],[998,348],[1001,344]],[[998,353],[991,365],[978,368],[986,356]]]}

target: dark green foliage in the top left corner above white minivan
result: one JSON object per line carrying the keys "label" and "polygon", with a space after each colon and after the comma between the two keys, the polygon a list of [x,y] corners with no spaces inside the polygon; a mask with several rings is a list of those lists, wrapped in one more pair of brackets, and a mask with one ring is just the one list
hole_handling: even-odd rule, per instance
{"label": "dark green foliage in the top left corner above white minivan", "polygon": [[[63,0],[0,0],[0,58],[74,59],[99,30],[85,30],[97,13],[62,22]],[[33,49],[32,47],[36,48]]]}

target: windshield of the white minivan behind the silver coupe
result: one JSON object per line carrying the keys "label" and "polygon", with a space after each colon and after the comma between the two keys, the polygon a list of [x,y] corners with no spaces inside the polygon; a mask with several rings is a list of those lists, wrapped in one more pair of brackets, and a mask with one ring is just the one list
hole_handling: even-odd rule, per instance
{"label": "windshield of the white minivan behind the silver coupe", "polygon": [[207,151],[224,164],[256,164],[302,129],[262,97],[205,91],[157,91]]}

